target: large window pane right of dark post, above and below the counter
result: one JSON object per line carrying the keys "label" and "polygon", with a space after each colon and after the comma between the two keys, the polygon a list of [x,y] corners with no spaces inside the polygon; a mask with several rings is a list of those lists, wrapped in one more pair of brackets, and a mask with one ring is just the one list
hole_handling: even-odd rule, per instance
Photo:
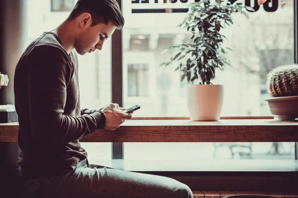
{"label": "large window pane right of dark post, above and below the counter", "polygon": [[[134,3],[133,3],[134,2]],[[164,69],[160,63],[170,57],[161,51],[169,46],[189,40],[190,35],[177,25],[186,13],[175,13],[170,8],[186,8],[187,3],[177,1],[133,0],[123,3],[126,24],[123,30],[123,85],[124,106],[141,105],[134,117],[182,117],[189,116],[186,99],[186,81],[180,83],[178,65]],[[258,8],[254,0],[237,0]],[[234,15],[234,25],[222,31],[228,39],[224,47],[232,67],[217,71],[216,84],[224,85],[222,116],[271,115],[266,89],[268,72],[282,64],[294,62],[294,7],[293,0],[278,0],[270,7],[261,5],[256,12],[248,13],[249,19]],[[157,10],[157,8],[159,10]],[[162,11],[156,13],[156,11]],[[267,11],[266,11],[266,10]],[[181,10],[180,10],[181,11]],[[183,11],[183,9],[182,9]],[[150,13],[148,13],[150,12]],[[147,95],[134,95],[130,89],[144,81],[130,85],[129,65],[148,65]],[[128,87],[131,86],[131,88]],[[126,159],[294,159],[294,143],[125,143]]]}

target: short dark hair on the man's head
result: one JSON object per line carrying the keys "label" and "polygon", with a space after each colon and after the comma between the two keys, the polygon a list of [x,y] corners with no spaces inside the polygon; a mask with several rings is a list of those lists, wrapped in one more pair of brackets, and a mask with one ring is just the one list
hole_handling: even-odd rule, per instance
{"label": "short dark hair on the man's head", "polygon": [[124,17],[116,0],[78,0],[68,19],[74,20],[84,12],[91,14],[91,26],[108,24],[109,21],[113,21],[117,29],[124,26]]}

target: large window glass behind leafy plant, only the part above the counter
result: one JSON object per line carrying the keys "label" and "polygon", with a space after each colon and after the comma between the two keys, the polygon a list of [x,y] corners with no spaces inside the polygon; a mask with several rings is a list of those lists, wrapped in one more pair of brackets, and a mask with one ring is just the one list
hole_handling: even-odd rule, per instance
{"label": "large window glass behind leafy plant, only the part above the counter", "polygon": [[[184,29],[177,27],[186,13],[171,13],[175,10],[170,8],[186,8],[194,0],[171,2],[137,0],[123,3],[126,20],[123,30],[123,99],[124,106],[141,105],[135,117],[189,116],[184,94],[187,83],[180,83],[181,74],[174,72],[178,63],[166,69],[159,65],[170,57],[168,53],[161,54],[163,49],[187,42],[190,38]],[[268,103],[264,101],[269,96],[266,75],[278,65],[294,62],[293,0],[274,0],[273,4],[269,3],[269,8],[254,5],[254,0],[237,0],[235,3],[244,2],[251,2],[250,5],[258,10],[249,12],[249,19],[236,13],[234,25],[222,29],[222,34],[228,39],[224,47],[232,49],[226,54],[232,67],[226,67],[224,72],[217,71],[214,83],[224,85],[222,116],[271,115]],[[148,13],[160,11],[157,8],[167,9],[163,13]],[[131,96],[132,79],[127,68],[136,62],[149,66],[145,75],[149,86],[146,96]],[[137,85],[134,87],[142,87],[144,81],[135,81]]]}

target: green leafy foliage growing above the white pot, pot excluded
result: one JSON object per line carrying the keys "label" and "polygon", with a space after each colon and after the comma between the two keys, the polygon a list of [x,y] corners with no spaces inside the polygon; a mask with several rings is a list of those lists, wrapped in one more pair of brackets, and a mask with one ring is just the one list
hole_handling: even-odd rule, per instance
{"label": "green leafy foliage growing above the white pot, pot excluded", "polygon": [[248,18],[245,8],[254,11],[251,7],[230,4],[229,1],[224,4],[201,0],[189,4],[189,11],[180,27],[186,28],[192,35],[191,42],[165,49],[162,53],[171,49],[175,55],[161,63],[161,66],[179,62],[175,71],[182,72],[181,82],[187,78],[189,84],[195,80],[199,80],[200,84],[212,84],[216,69],[224,70],[225,65],[230,65],[224,54],[231,49],[222,48],[226,38],[220,30],[224,24],[233,24],[231,15],[234,12],[240,12]]}

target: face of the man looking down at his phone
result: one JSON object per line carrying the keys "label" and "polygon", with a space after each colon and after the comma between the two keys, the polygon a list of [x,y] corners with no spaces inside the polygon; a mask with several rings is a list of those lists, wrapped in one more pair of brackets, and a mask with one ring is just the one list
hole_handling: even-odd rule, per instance
{"label": "face of the man looking down at his phone", "polygon": [[74,48],[80,55],[96,49],[101,50],[104,41],[110,38],[116,29],[116,25],[112,21],[109,21],[107,25],[99,23],[92,27],[89,24],[90,22],[86,24],[87,27],[82,30],[74,43]]}

